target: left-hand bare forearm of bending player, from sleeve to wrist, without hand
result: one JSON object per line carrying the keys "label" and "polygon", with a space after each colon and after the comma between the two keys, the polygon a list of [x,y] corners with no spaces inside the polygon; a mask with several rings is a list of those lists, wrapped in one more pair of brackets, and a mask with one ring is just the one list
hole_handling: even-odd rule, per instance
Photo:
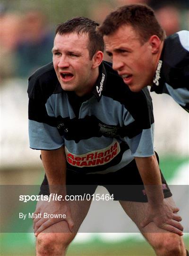
{"label": "left-hand bare forearm of bending player, from sleeve to wrist, without hand", "polygon": [[42,162],[51,193],[66,194],[66,157],[64,147],[42,150]]}

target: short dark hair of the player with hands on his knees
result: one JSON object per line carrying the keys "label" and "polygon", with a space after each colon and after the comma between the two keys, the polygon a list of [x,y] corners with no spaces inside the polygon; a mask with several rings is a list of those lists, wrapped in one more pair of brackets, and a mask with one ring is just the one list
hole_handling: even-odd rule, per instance
{"label": "short dark hair of the player with hands on his knees", "polygon": [[78,35],[82,33],[88,34],[88,50],[89,56],[92,59],[97,51],[103,52],[104,50],[103,37],[96,29],[96,27],[98,26],[98,23],[89,18],[76,17],[59,24],[56,29],[56,34],[58,33],[60,35],[63,35],[72,32],[76,32]]}

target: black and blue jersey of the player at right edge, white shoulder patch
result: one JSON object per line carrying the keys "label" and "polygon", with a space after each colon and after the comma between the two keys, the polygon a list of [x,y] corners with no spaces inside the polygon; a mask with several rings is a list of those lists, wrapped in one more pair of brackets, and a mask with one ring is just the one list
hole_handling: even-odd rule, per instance
{"label": "black and blue jersey of the player at right edge, white shoulder patch", "polygon": [[189,31],[165,39],[151,91],[171,95],[189,111]]}

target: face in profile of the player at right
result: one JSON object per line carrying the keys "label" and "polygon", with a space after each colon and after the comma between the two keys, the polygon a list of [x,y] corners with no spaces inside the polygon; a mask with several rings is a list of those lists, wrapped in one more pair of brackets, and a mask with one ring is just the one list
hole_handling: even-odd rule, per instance
{"label": "face in profile of the player at right", "polygon": [[112,35],[104,36],[106,52],[131,91],[150,85],[155,73],[155,57],[147,41],[142,44],[137,32],[129,25],[121,26]]}

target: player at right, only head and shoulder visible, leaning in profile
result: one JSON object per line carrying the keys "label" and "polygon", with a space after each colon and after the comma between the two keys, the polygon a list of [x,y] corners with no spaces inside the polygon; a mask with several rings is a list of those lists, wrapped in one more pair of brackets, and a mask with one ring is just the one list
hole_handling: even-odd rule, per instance
{"label": "player at right, only head and shoulder visible, leaning in profile", "polygon": [[100,32],[113,69],[131,91],[150,85],[189,111],[189,31],[166,38],[154,11],[133,4],[110,13]]}

